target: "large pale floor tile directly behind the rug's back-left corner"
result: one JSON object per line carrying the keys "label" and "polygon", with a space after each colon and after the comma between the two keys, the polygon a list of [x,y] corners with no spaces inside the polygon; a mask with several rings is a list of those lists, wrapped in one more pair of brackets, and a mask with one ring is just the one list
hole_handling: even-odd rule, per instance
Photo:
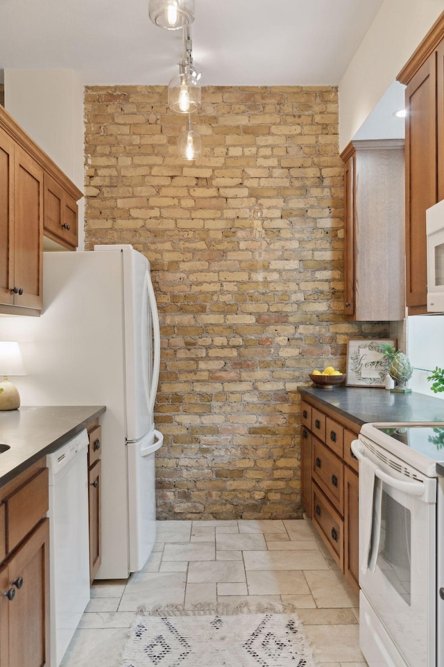
{"label": "large pale floor tile directly behind the rug's back-left corner", "polygon": [[119,611],[151,609],[164,604],[185,602],[186,573],[146,572],[131,575],[119,604]]}

